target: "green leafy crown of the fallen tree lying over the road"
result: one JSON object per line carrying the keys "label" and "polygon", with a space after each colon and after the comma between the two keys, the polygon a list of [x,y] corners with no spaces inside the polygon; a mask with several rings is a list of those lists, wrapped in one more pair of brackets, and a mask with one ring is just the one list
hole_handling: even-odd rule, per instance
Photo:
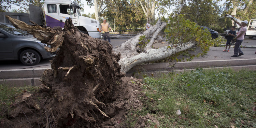
{"label": "green leafy crown of the fallen tree lying over the road", "polygon": [[168,48],[177,47],[184,42],[196,42],[196,45],[202,50],[202,53],[199,53],[197,56],[206,54],[209,47],[213,45],[213,42],[217,41],[216,39],[212,40],[208,30],[202,30],[200,26],[185,19],[183,15],[178,15],[174,18],[170,17],[165,34],[170,45]]}

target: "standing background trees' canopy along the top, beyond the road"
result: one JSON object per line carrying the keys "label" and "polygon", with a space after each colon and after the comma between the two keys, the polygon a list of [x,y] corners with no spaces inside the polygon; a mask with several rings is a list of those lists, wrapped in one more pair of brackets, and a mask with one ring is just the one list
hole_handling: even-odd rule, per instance
{"label": "standing background trees' canopy along the top, beyond the road", "polygon": [[[83,7],[83,1],[75,0]],[[85,16],[101,22],[106,18],[115,30],[145,27],[147,20],[154,25],[157,19],[167,19],[174,14],[184,0],[86,0],[87,5],[95,6],[95,13]],[[20,9],[15,12],[27,12],[28,4],[43,8],[44,0],[0,0],[0,11],[10,11],[11,5]],[[20,11],[25,10],[25,11]],[[84,12],[83,9],[81,12]],[[223,27],[218,20],[225,14],[235,14],[241,20],[256,17],[255,0],[186,0],[181,14],[191,22],[208,27]],[[222,19],[224,26],[230,25],[229,19]]]}

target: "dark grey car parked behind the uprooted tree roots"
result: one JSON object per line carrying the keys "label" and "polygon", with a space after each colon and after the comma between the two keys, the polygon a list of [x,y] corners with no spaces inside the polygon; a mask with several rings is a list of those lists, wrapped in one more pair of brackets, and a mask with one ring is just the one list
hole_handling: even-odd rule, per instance
{"label": "dark grey car parked behind the uprooted tree roots", "polygon": [[26,66],[37,65],[41,59],[56,56],[55,52],[46,52],[45,46],[50,47],[26,31],[0,23],[0,60],[20,60]]}

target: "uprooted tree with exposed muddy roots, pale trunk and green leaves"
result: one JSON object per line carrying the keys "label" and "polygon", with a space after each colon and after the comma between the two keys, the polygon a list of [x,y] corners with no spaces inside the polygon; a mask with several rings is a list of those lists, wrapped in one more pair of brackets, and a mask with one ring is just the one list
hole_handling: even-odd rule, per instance
{"label": "uprooted tree with exposed muddy roots, pale trunk and green leaves", "polygon": [[[181,15],[170,17],[169,24],[159,20],[150,29],[114,49],[106,41],[81,33],[73,26],[71,19],[66,21],[61,30],[60,27],[29,26],[19,20],[7,18],[15,27],[28,31],[42,43],[51,45],[51,48],[45,47],[47,51],[53,52],[60,48],[52,60],[52,69],[46,70],[42,76],[41,94],[38,97],[43,97],[43,101],[33,98],[23,101],[25,103],[15,109],[16,113],[8,115],[13,124],[18,123],[14,121],[14,118],[20,117],[18,114],[24,113],[26,116],[28,121],[15,127],[68,127],[78,120],[83,120],[86,127],[99,127],[96,125],[97,121],[109,118],[102,109],[118,93],[116,88],[125,72],[139,63],[166,58],[195,44],[206,51],[212,41],[208,36],[209,32],[202,31]],[[152,48],[158,33],[166,26],[166,37],[170,45]],[[139,38],[151,36],[151,40],[144,42],[147,45],[138,53],[137,46],[141,41]],[[184,41],[187,43],[183,43]]]}

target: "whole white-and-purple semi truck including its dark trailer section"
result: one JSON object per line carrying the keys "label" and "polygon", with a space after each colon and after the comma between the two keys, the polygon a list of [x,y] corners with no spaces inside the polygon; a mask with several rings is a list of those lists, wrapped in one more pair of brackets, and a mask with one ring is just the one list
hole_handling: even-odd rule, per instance
{"label": "whole white-and-purple semi truck including its dark trailer section", "polygon": [[10,21],[5,18],[5,15],[9,15],[12,18],[24,21],[27,24],[31,24],[29,22],[29,20],[31,20],[38,25],[46,25],[47,27],[51,28],[60,26],[63,28],[66,19],[71,18],[74,26],[76,26],[81,32],[86,33],[93,38],[101,38],[99,21],[82,16],[80,9],[81,6],[74,1],[72,2],[71,0],[45,0],[45,18],[41,8],[29,5],[28,14],[0,12],[0,22],[10,23]]}

